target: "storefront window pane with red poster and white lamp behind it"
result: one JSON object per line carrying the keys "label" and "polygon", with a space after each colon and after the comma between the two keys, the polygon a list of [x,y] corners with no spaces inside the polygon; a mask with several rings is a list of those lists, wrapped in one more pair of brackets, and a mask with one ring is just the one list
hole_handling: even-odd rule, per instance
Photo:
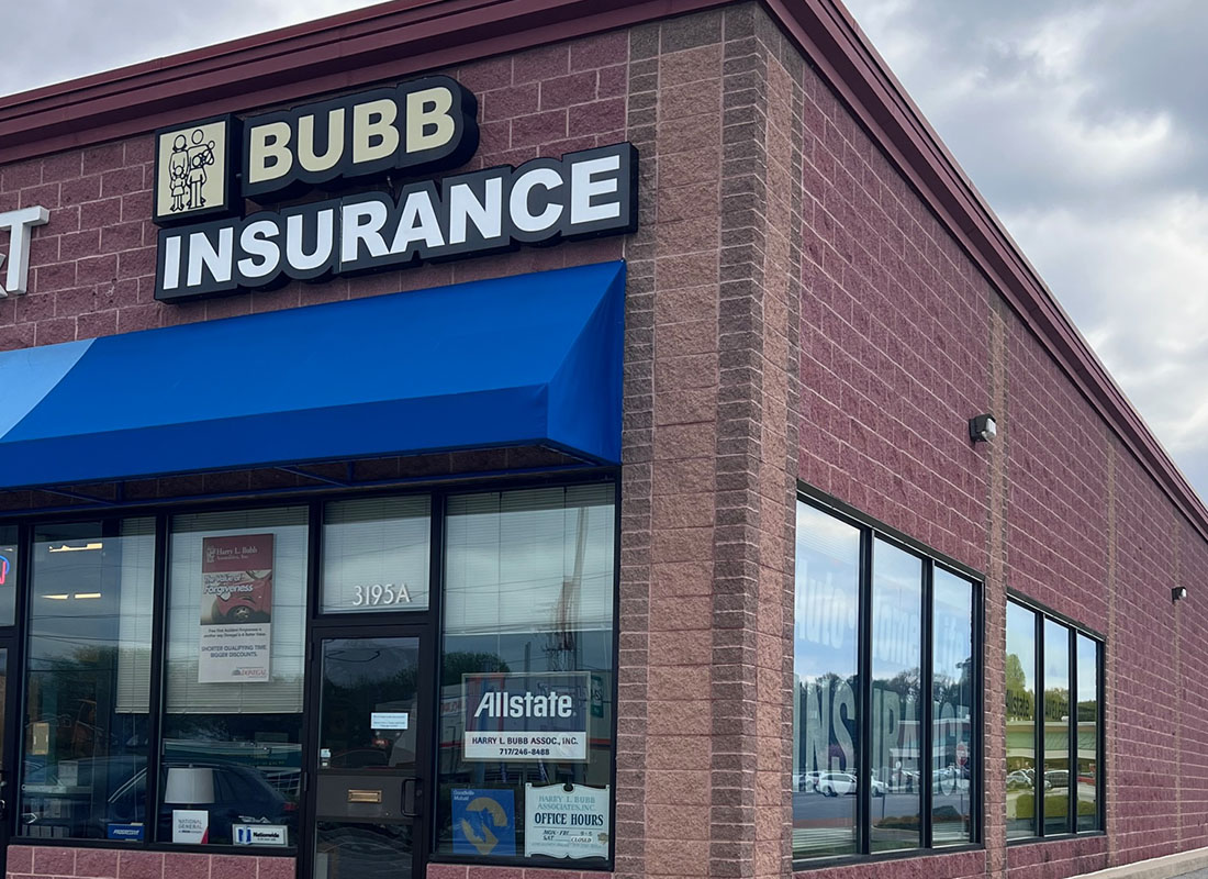
{"label": "storefront window pane with red poster and white lamp behind it", "polygon": [[307,509],[172,520],[156,838],[296,844]]}

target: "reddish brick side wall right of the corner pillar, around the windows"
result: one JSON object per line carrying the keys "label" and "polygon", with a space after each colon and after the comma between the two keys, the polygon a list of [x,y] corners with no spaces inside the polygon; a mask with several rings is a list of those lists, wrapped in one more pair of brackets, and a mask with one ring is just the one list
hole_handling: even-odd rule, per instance
{"label": "reddish brick side wall right of the corner pillar, around the windows", "polygon": [[[849,875],[1074,875],[1208,842],[1208,545],[812,70],[800,475],[986,573],[985,857]],[[974,446],[965,423],[999,416]],[[1107,837],[1005,848],[1006,590],[1107,636]],[[942,866],[940,866],[942,864]]]}

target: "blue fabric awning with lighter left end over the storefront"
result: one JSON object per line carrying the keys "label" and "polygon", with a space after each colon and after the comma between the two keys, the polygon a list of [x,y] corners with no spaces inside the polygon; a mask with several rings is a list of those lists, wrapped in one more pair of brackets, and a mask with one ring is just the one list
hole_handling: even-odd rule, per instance
{"label": "blue fabric awning with lighter left end over the storefront", "polygon": [[621,457],[625,264],[0,353],[0,488],[541,445]]}

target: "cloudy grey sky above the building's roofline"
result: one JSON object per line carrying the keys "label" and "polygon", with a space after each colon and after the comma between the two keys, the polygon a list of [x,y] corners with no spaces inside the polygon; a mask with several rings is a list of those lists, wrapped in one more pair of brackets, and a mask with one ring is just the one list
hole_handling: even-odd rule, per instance
{"label": "cloudy grey sky above the building's roofline", "polygon": [[[13,1],[0,94],[367,5]],[[1208,498],[1208,4],[847,5]]]}

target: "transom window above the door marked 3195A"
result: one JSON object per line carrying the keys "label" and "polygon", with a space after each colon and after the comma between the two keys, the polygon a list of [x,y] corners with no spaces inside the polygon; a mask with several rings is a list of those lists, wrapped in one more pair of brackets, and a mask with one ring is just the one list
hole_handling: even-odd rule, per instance
{"label": "transom window above the door marked 3195A", "polygon": [[323,612],[428,609],[431,501],[337,501],[324,508]]}

